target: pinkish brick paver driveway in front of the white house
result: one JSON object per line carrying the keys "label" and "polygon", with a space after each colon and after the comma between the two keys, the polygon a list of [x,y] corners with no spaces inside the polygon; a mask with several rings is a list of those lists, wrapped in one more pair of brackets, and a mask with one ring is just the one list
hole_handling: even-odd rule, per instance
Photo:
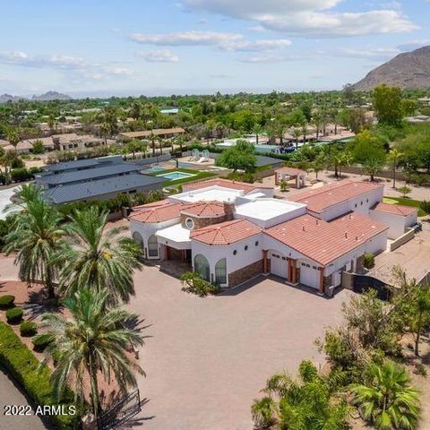
{"label": "pinkish brick paver driveway in front of the white house", "polygon": [[296,374],[304,358],[322,357],[314,339],[340,323],[352,293],[326,300],[264,279],[229,296],[199,298],[179,281],[145,267],[136,274],[134,311],[151,324],[139,379],[147,400],[133,428],[250,430],[250,406],[265,380]]}

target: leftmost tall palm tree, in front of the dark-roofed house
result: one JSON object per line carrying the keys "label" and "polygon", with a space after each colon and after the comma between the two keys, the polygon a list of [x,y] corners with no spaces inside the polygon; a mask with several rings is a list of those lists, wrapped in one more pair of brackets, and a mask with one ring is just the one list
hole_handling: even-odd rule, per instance
{"label": "leftmost tall palm tree, in front of the dark-roofed house", "polygon": [[16,215],[14,229],[5,237],[4,252],[18,253],[14,263],[20,266],[20,279],[29,285],[41,280],[50,298],[55,297],[53,282],[58,271],[54,256],[63,245],[61,219],[55,208],[37,199]]}

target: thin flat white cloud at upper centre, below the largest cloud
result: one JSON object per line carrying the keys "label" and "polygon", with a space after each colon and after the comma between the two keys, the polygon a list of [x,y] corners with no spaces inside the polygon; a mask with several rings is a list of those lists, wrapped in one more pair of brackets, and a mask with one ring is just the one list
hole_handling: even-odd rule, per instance
{"label": "thin flat white cloud at upper centre, below the largest cloud", "polygon": [[181,31],[167,34],[133,33],[130,39],[145,45],[170,47],[211,46],[242,39],[243,35],[237,33],[221,33],[217,31]]}

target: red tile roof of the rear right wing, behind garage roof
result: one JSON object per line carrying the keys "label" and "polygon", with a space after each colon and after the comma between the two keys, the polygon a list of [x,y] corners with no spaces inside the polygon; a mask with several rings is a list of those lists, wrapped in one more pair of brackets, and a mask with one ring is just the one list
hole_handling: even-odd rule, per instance
{"label": "red tile roof of the rear right wing, behind garage roof", "polygon": [[293,202],[307,204],[309,211],[321,213],[330,206],[357,197],[363,193],[383,187],[382,184],[358,182],[345,179],[312,190],[297,193],[291,197]]}

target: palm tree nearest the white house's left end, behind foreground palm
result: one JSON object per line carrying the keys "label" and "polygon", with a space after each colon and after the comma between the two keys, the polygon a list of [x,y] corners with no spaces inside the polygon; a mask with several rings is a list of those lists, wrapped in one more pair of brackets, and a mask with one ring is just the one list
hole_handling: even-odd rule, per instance
{"label": "palm tree nearest the white house's left end, behind foreground palm", "polygon": [[109,304],[128,302],[134,295],[133,271],[142,268],[140,248],[121,233],[126,228],[106,230],[107,212],[97,208],[75,211],[65,226],[68,240],[56,261],[62,269],[59,288],[66,296],[81,288],[107,289]]}

